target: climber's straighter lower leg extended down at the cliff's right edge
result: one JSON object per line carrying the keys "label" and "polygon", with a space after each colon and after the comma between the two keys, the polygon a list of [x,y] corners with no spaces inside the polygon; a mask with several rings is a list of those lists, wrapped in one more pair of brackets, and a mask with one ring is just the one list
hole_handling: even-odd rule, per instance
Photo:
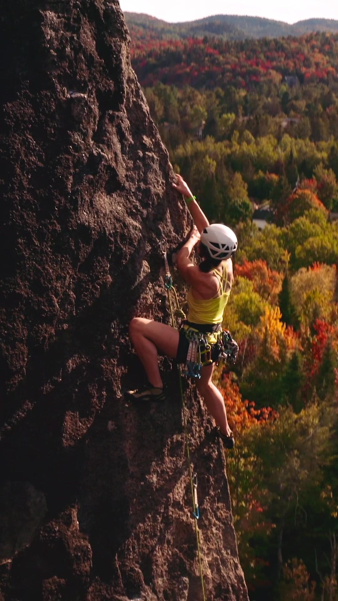
{"label": "climber's straighter lower leg extended down at the cliff's right edge", "polygon": [[196,386],[201,397],[203,397],[207,409],[215,419],[217,426],[220,428],[220,438],[223,440],[224,445],[227,448],[233,448],[235,441],[228,424],[224,398],[211,381],[214,365],[215,364],[206,365],[201,368],[201,379],[197,380]]}

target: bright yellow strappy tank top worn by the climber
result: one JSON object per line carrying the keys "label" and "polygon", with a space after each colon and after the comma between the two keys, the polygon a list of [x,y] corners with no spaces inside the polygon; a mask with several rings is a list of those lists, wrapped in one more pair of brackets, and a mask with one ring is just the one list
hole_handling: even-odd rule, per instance
{"label": "bright yellow strappy tank top worn by the climber", "polygon": [[230,290],[227,292],[226,285],[228,272],[226,265],[222,264],[222,274],[217,269],[212,269],[220,281],[221,296],[214,296],[212,299],[195,299],[192,296],[192,288],[188,290],[186,301],[188,302],[189,312],[188,321],[192,323],[222,323],[223,312],[230,296]]}

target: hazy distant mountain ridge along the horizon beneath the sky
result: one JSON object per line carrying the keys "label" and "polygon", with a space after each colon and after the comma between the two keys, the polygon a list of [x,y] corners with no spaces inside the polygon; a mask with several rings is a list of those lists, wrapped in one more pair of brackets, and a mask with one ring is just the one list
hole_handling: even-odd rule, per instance
{"label": "hazy distant mountain ridge along the horizon beneath the sky", "polygon": [[184,23],[167,23],[156,17],[139,13],[124,13],[132,40],[156,38],[187,38],[215,36],[226,40],[244,40],[245,38],[284,37],[302,35],[309,32],[338,32],[338,20],[307,19],[290,25],[282,21],[263,17],[217,14]]}

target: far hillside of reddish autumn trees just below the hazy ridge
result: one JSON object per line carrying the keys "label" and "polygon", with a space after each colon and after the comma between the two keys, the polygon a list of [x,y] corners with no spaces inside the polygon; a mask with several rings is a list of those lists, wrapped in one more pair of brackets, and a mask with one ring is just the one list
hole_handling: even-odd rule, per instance
{"label": "far hillside of reddish autumn trees just below the hazy ridge", "polygon": [[301,84],[337,81],[338,34],[307,34],[283,40],[149,40],[132,49],[132,65],[142,85],[192,85],[198,90],[256,89],[264,96],[275,88],[257,84],[281,84],[285,76],[297,76]]}

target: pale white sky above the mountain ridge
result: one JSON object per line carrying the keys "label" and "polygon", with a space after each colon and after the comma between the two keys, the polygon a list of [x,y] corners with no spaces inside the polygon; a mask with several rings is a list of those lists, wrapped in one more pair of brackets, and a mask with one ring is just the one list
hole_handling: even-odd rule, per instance
{"label": "pale white sky above the mountain ridge", "polygon": [[338,0],[120,0],[123,11],[150,14],[170,23],[213,14],[247,14],[286,23],[319,17],[338,20]]}

